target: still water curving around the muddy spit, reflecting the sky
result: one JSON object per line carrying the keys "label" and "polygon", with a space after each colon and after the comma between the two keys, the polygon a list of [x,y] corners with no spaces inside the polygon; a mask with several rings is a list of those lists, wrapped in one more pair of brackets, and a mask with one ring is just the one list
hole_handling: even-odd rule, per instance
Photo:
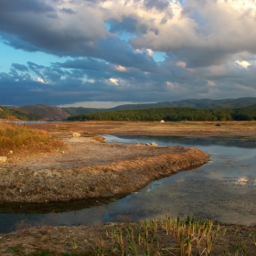
{"label": "still water curving around the muddy spit, reflecting the sky", "polygon": [[[105,135],[109,143],[152,143],[197,147],[210,155],[207,165],[150,183],[128,197],[108,204],[85,207],[82,202],[55,213],[7,213],[1,210],[0,232],[26,224],[93,225],[110,221],[152,219],[177,215],[214,219],[226,223],[256,224],[256,142],[243,138],[202,139],[160,136]],[[100,204],[100,203],[99,203]],[[65,207],[65,206],[64,206]],[[21,208],[22,209],[22,208]],[[17,208],[16,212],[22,212]]]}

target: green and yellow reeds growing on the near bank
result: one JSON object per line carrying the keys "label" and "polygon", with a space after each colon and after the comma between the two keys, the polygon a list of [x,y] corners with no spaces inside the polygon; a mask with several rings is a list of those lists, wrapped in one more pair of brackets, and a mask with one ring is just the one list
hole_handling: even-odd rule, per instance
{"label": "green and yellow reeds growing on the near bank", "polygon": [[[105,230],[105,234],[108,233],[112,234],[111,249],[107,250],[100,242],[96,255],[202,256],[210,255],[214,240],[224,235],[225,229],[221,230],[219,224],[214,226],[210,220],[196,220],[191,216],[185,220],[179,217],[171,219],[166,216],[160,221],[153,219],[133,225],[129,222],[124,227],[115,226],[110,231]],[[169,238],[170,244],[174,244],[172,247],[161,242],[163,234]],[[246,255],[242,254],[242,247],[239,251]]]}

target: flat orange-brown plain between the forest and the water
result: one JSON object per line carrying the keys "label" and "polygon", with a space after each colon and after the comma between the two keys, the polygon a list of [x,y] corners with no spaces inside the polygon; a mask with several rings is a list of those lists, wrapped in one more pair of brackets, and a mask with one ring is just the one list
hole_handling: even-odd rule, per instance
{"label": "flat orange-brown plain between the forest and the water", "polygon": [[[216,126],[217,124],[221,126]],[[54,131],[56,129],[73,129],[89,133],[109,134],[143,134],[143,135],[176,135],[176,136],[247,136],[256,139],[256,121],[231,122],[72,122],[47,125],[30,125]]]}

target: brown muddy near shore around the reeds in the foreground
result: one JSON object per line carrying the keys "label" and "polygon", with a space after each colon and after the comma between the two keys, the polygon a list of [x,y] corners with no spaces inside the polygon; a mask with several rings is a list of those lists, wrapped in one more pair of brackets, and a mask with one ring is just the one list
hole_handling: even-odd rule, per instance
{"label": "brown muddy near shore around the reeds in the foreground", "polygon": [[[218,225],[214,225],[218,229]],[[122,251],[107,253],[111,249],[111,244],[116,244],[117,235],[112,237],[113,229],[123,229],[123,245],[125,251],[128,251],[128,231],[133,229],[134,240],[138,240],[138,231],[141,230],[139,223],[107,223],[101,226],[75,226],[75,227],[51,227],[41,226],[37,228],[28,228],[20,223],[17,230],[9,234],[0,236],[0,254],[5,256],[12,255],[100,255],[95,253],[96,246],[103,245],[104,251],[101,255],[122,255]],[[210,255],[255,255],[256,227],[242,227],[237,225],[222,224],[219,227],[220,236],[213,239],[212,251]],[[226,231],[224,231],[226,230]],[[153,240],[154,233],[148,230],[149,238]],[[153,235],[152,235],[153,234]],[[161,254],[158,255],[180,255],[176,250],[177,243],[173,233],[166,235],[165,229],[161,229],[160,223],[157,227],[157,237],[160,245]],[[201,251],[204,250],[205,240],[201,242]],[[195,241],[193,242],[195,243]],[[154,254],[156,248],[155,242],[150,241],[151,254]],[[144,243],[142,242],[142,248]],[[137,248],[139,244],[137,242]],[[167,253],[165,249],[173,249]],[[145,255],[144,250],[138,255]],[[193,246],[193,251],[197,251]],[[224,252],[226,251],[226,253]],[[240,252],[240,253],[238,253]],[[134,253],[129,255],[135,255]],[[194,255],[194,254],[193,254]],[[196,255],[196,254],[195,254]],[[203,255],[203,253],[201,254]]]}

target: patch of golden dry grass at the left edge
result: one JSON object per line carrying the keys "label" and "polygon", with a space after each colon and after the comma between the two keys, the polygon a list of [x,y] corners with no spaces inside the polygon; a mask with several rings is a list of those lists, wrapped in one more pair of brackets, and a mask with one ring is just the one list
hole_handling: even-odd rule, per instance
{"label": "patch of golden dry grass at the left edge", "polygon": [[64,146],[63,142],[53,139],[44,130],[34,130],[17,124],[0,124],[0,155],[10,151],[50,152]]}

